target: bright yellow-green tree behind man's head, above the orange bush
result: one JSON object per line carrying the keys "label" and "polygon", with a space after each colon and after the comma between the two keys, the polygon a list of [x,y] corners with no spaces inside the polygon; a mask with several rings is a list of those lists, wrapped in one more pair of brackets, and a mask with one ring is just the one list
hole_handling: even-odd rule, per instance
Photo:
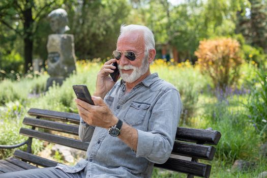
{"label": "bright yellow-green tree behind man's head, above the orange bush", "polygon": [[142,23],[153,30],[158,44],[175,48],[179,62],[185,59],[194,62],[200,40],[234,34],[235,13],[244,9],[247,1],[190,0],[171,4],[167,0],[146,0],[132,4],[138,7],[134,15],[142,14],[140,19],[145,19]]}

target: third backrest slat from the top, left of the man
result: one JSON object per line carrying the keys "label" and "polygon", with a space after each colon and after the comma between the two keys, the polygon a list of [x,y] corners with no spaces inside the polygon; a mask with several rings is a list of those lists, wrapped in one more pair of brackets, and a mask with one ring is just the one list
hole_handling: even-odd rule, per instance
{"label": "third backrest slat from the top, left of the man", "polygon": [[38,138],[41,140],[49,141],[49,142],[56,143],[56,144],[61,144],[64,146],[73,147],[74,149],[79,149],[79,150],[84,150],[84,151],[87,150],[87,147],[89,145],[88,142],[82,142],[80,140],[76,140],[73,138],[53,135],[49,133],[40,132],[37,130],[32,130],[32,129],[21,128],[19,133],[22,135],[28,136],[28,137],[34,137],[34,138]]}

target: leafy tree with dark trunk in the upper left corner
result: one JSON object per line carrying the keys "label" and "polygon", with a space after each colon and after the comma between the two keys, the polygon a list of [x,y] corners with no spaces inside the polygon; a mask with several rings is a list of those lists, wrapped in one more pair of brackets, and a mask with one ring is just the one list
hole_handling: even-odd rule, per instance
{"label": "leafy tree with dark trunk in the upper left corner", "polygon": [[38,22],[63,1],[9,0],[0,2],[0,24],[6,25],[24,43],[24,73],[33,63],[34,35]]}

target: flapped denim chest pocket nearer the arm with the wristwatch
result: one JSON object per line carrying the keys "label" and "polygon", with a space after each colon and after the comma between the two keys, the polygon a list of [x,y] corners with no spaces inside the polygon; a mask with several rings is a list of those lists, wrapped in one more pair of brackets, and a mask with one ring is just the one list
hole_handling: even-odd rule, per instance
{"label": "flapped denim chest pocket nearer the arm with the wristwatch", "polygon": [[133,101],[124,116],[124,122],[130,126],[142,125],[149,108],[150,104]]}

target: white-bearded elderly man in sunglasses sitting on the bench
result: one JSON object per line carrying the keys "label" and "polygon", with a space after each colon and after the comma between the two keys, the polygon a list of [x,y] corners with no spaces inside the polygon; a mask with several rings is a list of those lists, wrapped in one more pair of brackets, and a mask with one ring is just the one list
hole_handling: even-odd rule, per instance
{"label": "white-bearded elderly man in sunglasses sitting on the bench", "polygon": [[[98,73],[95,105],[76,99],[79,137],[90,142],[86,160],[74,167],[43,168],[44,177],[151,177],[154,163],[167,161],[182,103],[173,85],[151,74],[155,54],[149,28],[121,27],[114,58]],[[122,80],[109,77],[115,69],[112,63],[117,63]]]}

